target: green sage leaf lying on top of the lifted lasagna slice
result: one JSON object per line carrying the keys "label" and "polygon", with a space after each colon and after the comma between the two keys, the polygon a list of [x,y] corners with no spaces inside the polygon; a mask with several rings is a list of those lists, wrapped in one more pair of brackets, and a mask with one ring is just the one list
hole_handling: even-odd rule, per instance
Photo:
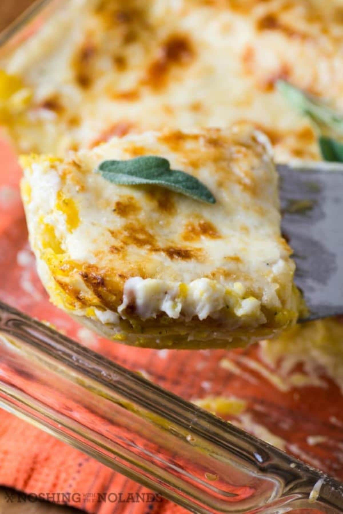
{"label": "green sage leaf lying on top of the lifted lasagna slice", "polygon": [[215,203],[214,196],[200,180],[183,171],[171,170],[164,157],[146,155],[128,160],[106,160],[97,171],[106,180],[123,186],[151,184],[209,204]]}

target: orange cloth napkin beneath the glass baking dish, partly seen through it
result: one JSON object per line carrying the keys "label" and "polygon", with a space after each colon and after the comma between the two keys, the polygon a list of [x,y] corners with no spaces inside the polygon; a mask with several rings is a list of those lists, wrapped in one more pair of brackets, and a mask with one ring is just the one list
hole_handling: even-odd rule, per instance
{"label": "orange cloth napkin beneath the glass baking dish, partly seen through it", "polygon": [[[145,373],[184,398],[241,398],[246,406],[244,415],[231,416],[233,422],[277,441],[288,453],[343,480],[343,397],[329,379],[325,379],[326,387],[280,391],[268,379],[270,370],[261,362],[258,345],[244,351],[130,348],[97,337],[53,307],[37,278],[28,249],[17,190],[20,170],[13,153],[1,141],[0,162],[0,299],[50,321],[65,334],[127,368]],[[221,366],[223,358],[229,359],[231,366]],[[251,365],[254,362],[259,364],[255,369]],[[315,439],[310,440],[309,435],[320,435],[317,441],[321,443],[314,444]],[[186,512],[2,410],[0,484],[99,514]],[[14,496],[12,501],[17,498]]]}

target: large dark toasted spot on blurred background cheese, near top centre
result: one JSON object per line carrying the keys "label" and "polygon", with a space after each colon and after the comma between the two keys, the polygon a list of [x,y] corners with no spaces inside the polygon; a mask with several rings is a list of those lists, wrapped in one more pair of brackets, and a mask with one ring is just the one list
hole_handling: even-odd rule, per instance
{"label": "large dark toasted spot on blurred background cheese, near top centre", "polygon": [[150,64],[143,84],[155,90],[166,86],[171,69],[176,66],[187,66],[193,58],[194,49],[186,35],[169,36],[159,48],[155,61]]}

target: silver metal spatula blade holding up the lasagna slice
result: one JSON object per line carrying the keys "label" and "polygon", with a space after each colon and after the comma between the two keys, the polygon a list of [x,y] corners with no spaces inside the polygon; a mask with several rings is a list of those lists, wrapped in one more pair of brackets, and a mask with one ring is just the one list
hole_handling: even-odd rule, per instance
{"label": "silver metal spatula blade holding up the lasagna slice", "polygon": [[282,231],[310,315],[343,314],[343,164],[279,164]]}

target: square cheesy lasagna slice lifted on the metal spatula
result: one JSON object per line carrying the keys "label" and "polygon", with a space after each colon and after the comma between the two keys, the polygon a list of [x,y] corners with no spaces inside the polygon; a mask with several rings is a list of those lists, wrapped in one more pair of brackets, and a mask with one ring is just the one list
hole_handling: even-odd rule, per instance
{"label": "square cheesy lasagna slice lifted on the metal spatula", "polygon": [[[196,177],[216,202],[97,172],[105,160],[148,155]],[[146,132],[22,165],[30,242],[50,298],[105,337],[229,347],[296,322],[278,177],[254,128]]]}

